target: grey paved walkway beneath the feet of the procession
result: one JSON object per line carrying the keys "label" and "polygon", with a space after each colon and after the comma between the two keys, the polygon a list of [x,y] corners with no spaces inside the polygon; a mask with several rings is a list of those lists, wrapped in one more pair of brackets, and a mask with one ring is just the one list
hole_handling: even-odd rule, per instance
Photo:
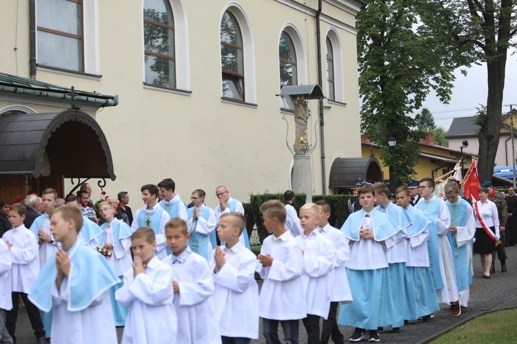
{"label": "grey paved walkway beneath the feet of the procession", "polygon": [[[507,247],[507,255],[510,257],[507,259],[508,272],[501,273],[499,261],[496,261],[497,272],[492,275],[491,279],[480,277],[483,270],[481,269],[479,255],[474,255],[474,284],[471,286],[470,303],[466,312],[463,312],[460,316],[450,316],[449,306],[441,305],[440,312],[437,312],[434,319],[431,319],[428,323],[411,321],[408,325],[402,327],[401,333],[381,332],[381,342],[427,343],[440,336],[440,334],[448,332],[480,314],[506,308],[517,308],[517,246]],[[345,335],[346,341],[353,331],[352,327],[341,327],[341,332]],[[122,329],[119,328],[118,332],[119,338],[121,338]],[[281,327],[279,327],[279,332],[281,332]],[[25,310],[20,310],[17,336],[20,344],[34,343],[34,336]],[[265,343],[262,334],[258,340],[252,341],[252,343]],[[305,327],[301,322],[300,343],[307,343]]]}

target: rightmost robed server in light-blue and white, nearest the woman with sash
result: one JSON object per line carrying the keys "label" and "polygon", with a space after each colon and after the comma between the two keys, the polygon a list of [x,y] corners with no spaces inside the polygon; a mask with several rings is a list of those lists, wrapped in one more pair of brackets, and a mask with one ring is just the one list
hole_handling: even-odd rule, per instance
{"label": "rightmost robed server in light-blue and white, nearest the woman with sash", "polygon": [[[472,284],[472,238],[476,233],[476,219],[472,206],[460,197],[458,183],[448,182],[444,192],[447,197],[445,204],[451,213],[451,230],[447,233],[447,239],[449,239],[454,256],[460,304],[462,307],[467,307]],[[459,305],[453,306],[454,308],[460,307]]]}

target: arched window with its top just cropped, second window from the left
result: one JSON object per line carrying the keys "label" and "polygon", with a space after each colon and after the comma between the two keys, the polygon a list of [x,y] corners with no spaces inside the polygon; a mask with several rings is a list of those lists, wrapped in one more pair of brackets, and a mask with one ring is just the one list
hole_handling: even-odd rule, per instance
{"label": "arched window with its top just cropped, second window from the left", "polygon": [[174,17],[167,0],[143,3],[145,83],[176,88]]}

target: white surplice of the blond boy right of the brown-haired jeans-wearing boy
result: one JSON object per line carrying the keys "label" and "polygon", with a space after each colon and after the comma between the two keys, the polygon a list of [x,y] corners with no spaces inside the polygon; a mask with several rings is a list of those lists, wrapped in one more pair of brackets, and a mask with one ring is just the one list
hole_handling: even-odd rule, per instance
{"label": "white surplice of the blond boy right of the brown-haired jeans-wearing boy", "polygon": [[329,273],[334,268],[334,245],[314,228],[309,236],[305,233],[294,238],[303,252],[303,290],[307,314],[327,319],[330,310]]}

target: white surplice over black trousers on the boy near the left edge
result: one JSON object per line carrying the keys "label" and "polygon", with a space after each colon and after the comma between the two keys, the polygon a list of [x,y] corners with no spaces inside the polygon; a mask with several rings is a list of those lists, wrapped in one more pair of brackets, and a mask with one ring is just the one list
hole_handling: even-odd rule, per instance
{"label": "white surplice over black trousers on the boy near the left edge", "polygon": [[8,230],[2,239],[12,244],[12,292],[28,294],[39,275],[38,241],[23,224]]}

